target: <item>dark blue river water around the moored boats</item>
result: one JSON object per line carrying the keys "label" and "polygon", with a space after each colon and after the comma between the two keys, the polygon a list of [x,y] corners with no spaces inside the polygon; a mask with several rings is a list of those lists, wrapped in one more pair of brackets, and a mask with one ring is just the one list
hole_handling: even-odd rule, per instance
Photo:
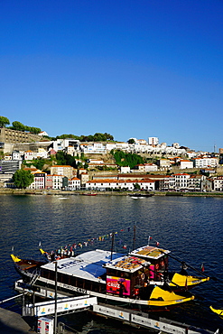
{"label": "dark blue river water around the moored boats", "polygon": [[[223,309],[223,199],[190,197],[152,197],[132,199],[127,196],[60,196],[23,195],[0,196],[0,301],[10,298],[14,281],[19,275],[14,270],[10,254],[41,259],[39,243],[51,251],[60,246],[83,243],[93,237],[116,234],[116,251],[123,246],[132,249],[136,226],[136,246],[147,245],[148,237],[172,255],[188,262],[212,279],[192,290],[195,300],[179,305],[160,315],[203,329],[223,328],[209,306]],[[110,249],[111,241],[97,241],[79,252],[93,248]],[[170,260],[170,266],[180,271],[180,264]],[[192,272],[190,272],[192,274]],[[195,273],[193,273],[195,274]],[[12,311],[20,311],[19,301],[1,304]],[[151,314],[153,316],[153,314]],[[157,316],[157,314],[156,314]],[[121,328],[112,320],[91,318],[89,314],[73,314],[62,318],[79,333],[134,333],[135,329]]]}

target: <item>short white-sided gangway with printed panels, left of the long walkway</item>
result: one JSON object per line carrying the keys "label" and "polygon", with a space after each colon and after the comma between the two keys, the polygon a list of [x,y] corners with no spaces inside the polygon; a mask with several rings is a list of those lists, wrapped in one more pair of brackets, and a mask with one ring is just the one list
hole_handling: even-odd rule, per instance
{"label": "short white-sided gangway with printed panels, left of the long walkway", "polygon": [[[57,300],[56,313],[60,315],[85,311],[97,303],[97,297],[89,297],[88,295],[62,298]],[[42,317],[51,314],[55,314],[55,301],[32,303],[23,307],[23,316]]]}

